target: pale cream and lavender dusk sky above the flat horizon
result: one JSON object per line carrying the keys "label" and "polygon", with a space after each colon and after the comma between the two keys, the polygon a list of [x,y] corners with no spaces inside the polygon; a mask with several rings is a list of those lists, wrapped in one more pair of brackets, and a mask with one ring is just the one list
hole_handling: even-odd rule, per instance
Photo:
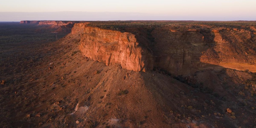
{"label": "pale cream and lavender dusk sky above the flat horizon", "polygon": [[256,0],[5,0],[0,21],[256,20]]}

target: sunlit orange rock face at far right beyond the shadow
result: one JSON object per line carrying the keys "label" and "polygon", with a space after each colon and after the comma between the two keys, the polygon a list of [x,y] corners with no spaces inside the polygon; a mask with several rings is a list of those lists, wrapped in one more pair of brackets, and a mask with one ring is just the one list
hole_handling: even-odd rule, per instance
{"label": "sunlit orange rock face at far right beyond the shadow", "polygon": [[[212,59],[211,61],[201,62],[222,65],[223,63],[233,64],[247,64],[255,65],[255,51],[252,46],[255,45],[253,40],[255,37],[251,36],[251,32],[244,29],[234,28],[220,28],[218,30],[212,30],[214,32],[215,46],[212,49],[216,52],[218,59]],[[205,52],[201,58],[210,56]]]}

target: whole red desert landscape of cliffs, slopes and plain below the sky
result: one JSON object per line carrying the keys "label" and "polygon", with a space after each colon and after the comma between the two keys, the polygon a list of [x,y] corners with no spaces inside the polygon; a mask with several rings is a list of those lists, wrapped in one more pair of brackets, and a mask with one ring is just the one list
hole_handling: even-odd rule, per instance
{"label": "whole red desert landscape of cliffs, slopes and plain below the sky", "polygon": [[0,23],[0,127],[256,127],[255,33],[254,21]]}

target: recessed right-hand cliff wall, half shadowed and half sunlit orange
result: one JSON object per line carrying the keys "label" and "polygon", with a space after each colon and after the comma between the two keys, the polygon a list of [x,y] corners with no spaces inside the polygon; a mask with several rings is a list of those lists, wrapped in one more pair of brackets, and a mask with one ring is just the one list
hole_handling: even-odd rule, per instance
{"label": "recessed right-hand cliff wall, half shadowed and half sunlit orange", "polygon": [[154,37],[155,65],[184,75],[207,68],[256,71],[255,36],[244,29],[159,27]]}

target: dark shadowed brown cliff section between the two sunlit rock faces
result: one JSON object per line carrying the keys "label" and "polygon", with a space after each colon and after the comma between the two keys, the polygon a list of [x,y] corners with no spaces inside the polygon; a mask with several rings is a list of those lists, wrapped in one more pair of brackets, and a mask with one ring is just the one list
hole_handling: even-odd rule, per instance
{"label": "dark shadowed brown cliff section between the two sunlit rock faces", "polygon": [[157,28],[152,31],[156,67],[172,74],[188,74],[203,65],[199,57],[207,49],[205,36],[196,29]]}

